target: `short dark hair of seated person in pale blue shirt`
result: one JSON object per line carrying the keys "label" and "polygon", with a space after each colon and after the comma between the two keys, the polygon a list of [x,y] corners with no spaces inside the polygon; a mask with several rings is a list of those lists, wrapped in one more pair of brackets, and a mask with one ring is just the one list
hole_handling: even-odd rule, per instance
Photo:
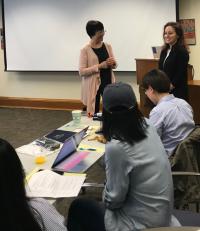
{"label": "short dark hair of seated person in pale blue shirt", "polygon": [[170,80],[165,72],[159,69],[149,71],[142,79],[142,87],[148,89],[150,87],[158,93],[169,93]]}

